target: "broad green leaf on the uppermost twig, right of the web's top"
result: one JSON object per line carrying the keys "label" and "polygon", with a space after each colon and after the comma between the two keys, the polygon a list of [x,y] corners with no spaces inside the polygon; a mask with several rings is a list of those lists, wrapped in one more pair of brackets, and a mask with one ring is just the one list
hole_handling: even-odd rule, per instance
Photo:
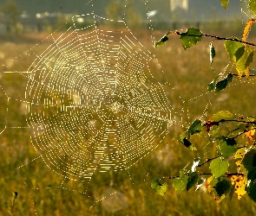
{"label": "broad green leaf on the uppermost twig, right of the web's top", "polygon": [[200,29],[189,28],[185,33],[181,33],[181,44],[185,50],[191,48],[201,40],[202,33],[200,32]]}

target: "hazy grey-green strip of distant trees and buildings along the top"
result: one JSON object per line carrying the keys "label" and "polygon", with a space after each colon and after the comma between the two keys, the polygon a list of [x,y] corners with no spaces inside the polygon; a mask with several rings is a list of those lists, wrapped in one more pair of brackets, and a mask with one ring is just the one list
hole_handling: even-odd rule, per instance
{"label": "hazy grey-green strip of distant trees and buildings along the top", "polygon": [[[1,0],[0,32],[3,35],[10,30],[21,32],[42,32],[57,29],[61,24],[70,22],[75,15],[91,13],[109,19],[120,20],[124,15],[124,5],[127,4],[126,18],[130,28],[148,27],[148,17],[153,23],[154,29],[181,29],[187,26],[195,26],[210,29],[223,29],[240,22],[241,2],[233,0],[228,4],[228,10],[224,10],[218,1],[201,0],[159,0],[159,1],[93,1],[91,8],[89,1],[69,0],[39,1]],[[148,16],[147,16],[148,15]],[[82,22],[77,21],[77,22]],[[220,27],[220,28],[219,28]],[[233,28],[235,29],[235,28]]]}

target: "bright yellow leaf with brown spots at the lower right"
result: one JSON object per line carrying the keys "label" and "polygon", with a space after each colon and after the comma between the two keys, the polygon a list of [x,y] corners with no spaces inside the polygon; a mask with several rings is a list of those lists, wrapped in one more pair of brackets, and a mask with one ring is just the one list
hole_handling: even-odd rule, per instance
{"label": "bright yellow leaf with brown spots at the lower right", "polygon": [[230,179],[230,182],[235,185],[234,193],[237,195],[237,198],[240,200],[241,197],[246,194],[246,184],[247,178],[243,175],[233,175]]}

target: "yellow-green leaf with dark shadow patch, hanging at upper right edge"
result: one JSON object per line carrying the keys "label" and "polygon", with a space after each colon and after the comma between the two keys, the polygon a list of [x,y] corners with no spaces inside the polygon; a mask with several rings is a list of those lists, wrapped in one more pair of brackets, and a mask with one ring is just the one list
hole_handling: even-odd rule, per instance
{"label": "yellow-green leaf with dark shadow patch, hanging at upper right edge", "polygon": [[253,62],[253,54],[253,49],[249,46],[239,48],[237,52],[234,54],[235,66],[240,77],[243,75],[243,73],[246,73],[246,76],[249,75],[249,67]]}

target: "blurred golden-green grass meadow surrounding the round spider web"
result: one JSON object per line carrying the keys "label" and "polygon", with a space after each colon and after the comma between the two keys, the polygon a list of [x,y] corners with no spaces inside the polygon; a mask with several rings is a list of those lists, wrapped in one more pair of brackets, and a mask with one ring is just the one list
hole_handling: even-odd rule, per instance
{"label": "blurred golden-green grass meadow surrounding the round spider web", "polygon": [[[164,34],[157,31],[154,36],[160,39]],[[152,49],[148,32],[138,31],[135,35],[145,47]],[[177,124],[169,128],[167,137],[152,152],[128,170],[96,175],[88,183],[63,181],[62,176],[46,166],[33,147],[27,128],[23,103],[27,79],[20,73],[3,73],[26,71],[33,56],[23,52],[29,54],[27,50],[36,43],[38,53],[43,52],[51,43],[50,40],[40,42],[43,37],[30,35],[16,42],[0,41],[0,132],[3,131],[0,133],[0,215],[10,215],[14,191],[18,193],[14,216],[256,214],[256,204],[246,195],[241,200],[226,198],[217,206],[204,188],[177,194],[172,181],[167,181],[168,190],[162,197],[150,187],[151,181],[160,176],[179,175],[179,170],[194,157],[204,156],[202,160],[206,160],[216,156],[215,146],[209,143],[208,137],[194,140],[199,151],[189,151],[177,142],[181,131],[195,118],[206,120],[220,110],[242,115],[256,113],[255,79],[234,80],[217,95],[207,92],[207,85],[224,71],[229,61],[223,41],[213,43],[217,52],[213,62],[215,73],[209,64],[208,39],[185,52],[178,36],[171,35],[165,46],[154,51],[156,58],[150,62],[150,71],[163,86]],[[231,67],[228,70],[234,72]],[[207,143],[208,148],[204,148]],[[86,194],[81,193],[85,191]]]}

